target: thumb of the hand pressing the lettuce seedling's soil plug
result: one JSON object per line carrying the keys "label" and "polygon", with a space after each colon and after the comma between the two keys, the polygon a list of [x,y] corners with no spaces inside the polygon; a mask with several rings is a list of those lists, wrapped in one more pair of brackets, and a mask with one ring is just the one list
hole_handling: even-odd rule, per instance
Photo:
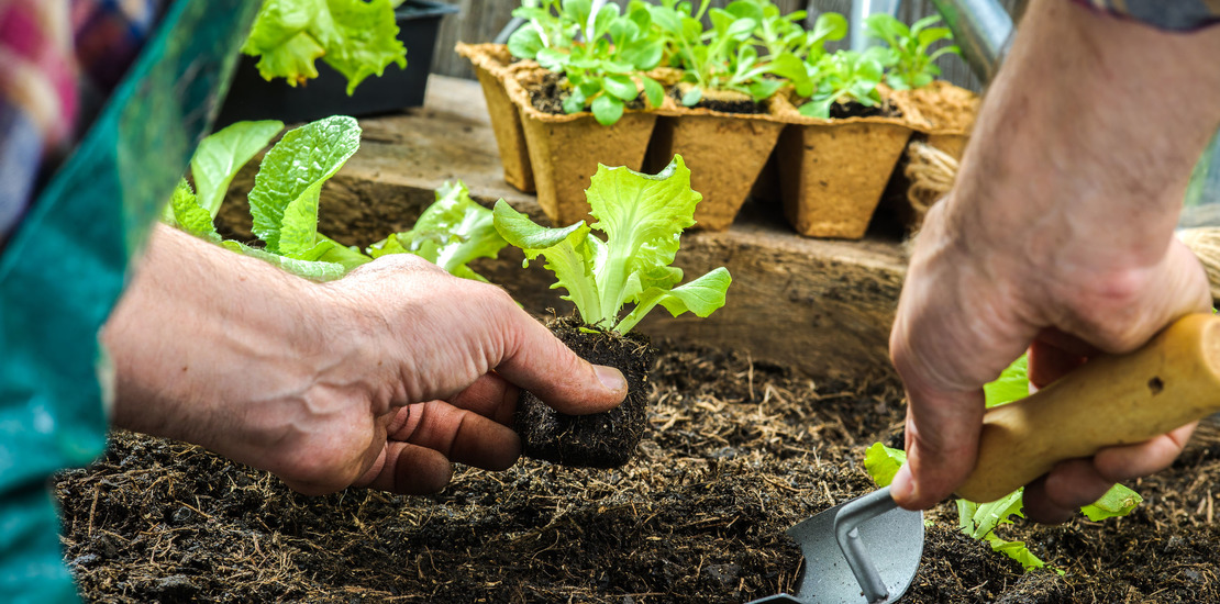
{"label": "thumb of the hand pressing the lettuce seedling's soil plug", "polygon": [[495,367],[497,373],[556,411],[571,415],[605,411],[627,398],[627,378],[621,371],[581,359],[550,329],[516,310],[508,327],[516,337]]}

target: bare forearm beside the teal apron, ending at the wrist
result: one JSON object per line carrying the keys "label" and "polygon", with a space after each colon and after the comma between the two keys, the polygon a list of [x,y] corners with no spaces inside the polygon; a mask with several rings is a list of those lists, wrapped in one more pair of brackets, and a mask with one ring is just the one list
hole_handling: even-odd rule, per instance
{"label": "bare forearm beside the teal apron, ending at the wrist", "polygon": [[[212,408],[289,394],[279,378],[309,371],[299,355],[317,348],[303,321],[311,297],[309,283],[271,265],[159,227],[104,332],[117,371],[115,425],[190,442],[254,428]],[[248,371],[255,361],[261,371]]]}

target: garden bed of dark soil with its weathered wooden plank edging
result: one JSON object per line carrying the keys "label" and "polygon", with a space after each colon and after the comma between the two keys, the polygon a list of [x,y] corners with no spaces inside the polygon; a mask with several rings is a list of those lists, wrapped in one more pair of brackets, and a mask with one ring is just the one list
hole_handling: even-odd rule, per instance
{"label": "garden bed of dark soil with its weathered wooden plank edging", "polygon": [[[477,84],[433,78],[423,110],[361,122],[361,150],[322,194],[323,232],[359,243],[401,231],[455,178],[540,216],[503,183]],[[784,531],[871,489],[864,449],[900,443],[886,338],[904,268],[897,237],[805,239],[778,207],[747,205],[727,232],[682,242],[689,275],[733,273],[727,305],[640,325],[664,345],[626,466],[522,460],[459,469],[432,497],[305,498],[198,448],[118,433],[105,459],[56,481],[85,598],[737,603],[791,591],[800,554]],[[248,212],[228,207],[221,226],[242,238],[231,218]],[[476,268],[536,314],[566,312],[518,253]],[[941,505],[904,602],[1220,602],[1220,439],[1202,432],[1171,470],[1132,484],[1146,502],[1131,516],[1005,528],[1063,576],[1022,573]]]}

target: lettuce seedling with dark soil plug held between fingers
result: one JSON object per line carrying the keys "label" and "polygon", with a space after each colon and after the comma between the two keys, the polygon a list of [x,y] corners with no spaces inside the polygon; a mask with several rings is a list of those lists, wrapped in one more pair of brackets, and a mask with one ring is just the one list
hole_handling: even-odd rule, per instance
{"label": "lettuce seedling with dark soil plug held between fingers", "polygon": [[619,367],[627,377],[627,400],[606,412],[572,416],[523,393],[516,425],[527,456],[616,467],[631,459],[643,437],[654,355],[648,338],[631,329],[658,305],[673,316],[689,311],[706,317],[725,305],[732,279],[720,267],[678,286],[682,270],[670,266],[703,199],[691,189],[691,171],[681,156],[656,176],[599,166],[586,196],[597,218],[592,226],[581,221],[565,228],[542,227],[500,200],[495,228],[525,251],[527,264],[545,256],[547,268],[555,273],[551,287],[566,289],[564,298],[578,314],[554,321],[551,329],[590,362]]}

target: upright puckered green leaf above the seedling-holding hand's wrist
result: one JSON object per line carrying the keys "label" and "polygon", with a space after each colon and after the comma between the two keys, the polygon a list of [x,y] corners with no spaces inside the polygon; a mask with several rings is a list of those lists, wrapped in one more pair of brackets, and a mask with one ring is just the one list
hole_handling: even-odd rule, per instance
{"label": "upright puckered green leaf above the seedling-holding hand's wrist", "polygon": [[360,148],[360,126],[333,116],[289,131],[267,151],[250,192],[254,233],[266,251],[292,255],[317,244],[322,184]]}

